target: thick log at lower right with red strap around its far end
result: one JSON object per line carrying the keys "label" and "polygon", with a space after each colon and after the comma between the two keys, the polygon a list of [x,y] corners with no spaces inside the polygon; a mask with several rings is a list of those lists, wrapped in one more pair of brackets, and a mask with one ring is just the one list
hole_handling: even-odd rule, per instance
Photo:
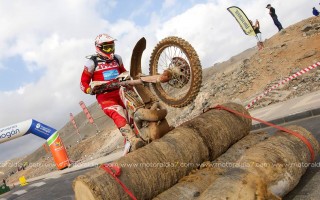
{"label": "thick log at lower right with red strap around its far end", "polygon": [[[300,126],[287,128],[303,135],[318,155],[319,143],[311,133]],[[217,178],[199,199],[280,199],[299,183],[310,160],[310,151],[301,139],[278,131],[248,149],[238,160],[239,167]]]}

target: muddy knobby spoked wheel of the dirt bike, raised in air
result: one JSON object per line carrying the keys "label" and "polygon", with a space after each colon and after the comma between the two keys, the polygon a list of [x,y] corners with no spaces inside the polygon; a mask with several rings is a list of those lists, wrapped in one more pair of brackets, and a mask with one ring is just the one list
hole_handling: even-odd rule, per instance
{"label": "muddy knobby spoked wheel of the dirt bike, raised in air", "polygon": [[156,95],[171,107],[189,105],[197,97],[202,83],[199,56],[189,42],[171,36],[155,46],[150,57],[150,75],[162,74],[164,70],[171,71],[173,78],[167,83],[153,83]]}

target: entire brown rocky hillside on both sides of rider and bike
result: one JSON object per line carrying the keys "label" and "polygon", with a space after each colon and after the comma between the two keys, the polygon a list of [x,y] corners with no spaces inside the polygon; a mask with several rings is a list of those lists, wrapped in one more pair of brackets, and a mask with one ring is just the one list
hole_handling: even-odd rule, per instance
{"label": "entire brown rocky hillside on both sides of rider and bike", "polygon": [[[169,108],[168,122],[176,126],[201,113],[211,105],[235,101],[246,106],[257,95],[277,84],[284,78],[301,69],[320,61],[320,17],[305,19],[287,27],[264,42],[265,48],[258,51],[256,47],[216,63],[204,69],[203,84],[197,99],[182,109]],[[295,98],[306,93],[320,90],[320,68],[299,76],[259,100],[251,109]],[[75,116],[82,141],[71,123],[67,123],[60,134],[71,160],[85,162],[99,156],[107,155],[115,149],[121,149],[122,136],[115,130],[112,121],[104,116],[97,103],[90,105],[90,112],[96,119],[100,131],[86,120],[84,113]],[[113,131],[112,131],[113,130]],[[9,182],[16,182],[22,174],[27,178],[56,170],[50,153],[39,148],[21,162],[40,163],[42,167],[27,167],[26,170],[9,177]],[[45,165],[51,163],[51,165]],[[35,165],[37,166],[37,165]],[[4,172],[15,168],[3,167]],[[1,174],[0,174],[1,175]],[[5,174],[7,176],[7,174]]]}

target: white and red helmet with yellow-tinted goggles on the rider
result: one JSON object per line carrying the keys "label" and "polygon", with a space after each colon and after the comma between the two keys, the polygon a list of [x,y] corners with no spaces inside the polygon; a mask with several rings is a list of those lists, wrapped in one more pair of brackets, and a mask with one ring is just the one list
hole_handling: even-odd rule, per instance
{"label": "white and red helmet with yellow-tinted goggles on the rider", "polygon": [[96,52],[105,59],[112,60],[114,58],[116,39],[107,34],[100,34],[95,39]]}

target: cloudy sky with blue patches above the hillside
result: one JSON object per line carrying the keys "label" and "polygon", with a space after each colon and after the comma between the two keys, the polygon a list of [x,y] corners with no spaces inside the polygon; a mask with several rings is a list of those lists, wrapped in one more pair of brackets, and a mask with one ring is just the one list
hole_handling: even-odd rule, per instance
{"label": "cloudy sky with blue patches above the hillside", "polygon": [[[284,27],[311,17],[312,7],[319,6],[310,0],[0,0],[0,127],[33,118],[60,129],[70,112],[81,111],[79,101],[93,103],[94,97],[80,91],[79,81],[85,56],[94,53],[100,33],[117,39],[116,53],[127,69],[141,37],[147,39],[142,58],[147,73],[152,48],[171,35],[188,40],[206,68],[256,44],[228,13],[229,6],[259,19],[264,39],[277,33],[268,3]],[[20,142],[24,153],[42,144]],[[13,156],[13,143],[0,144],[0,161]]]}

